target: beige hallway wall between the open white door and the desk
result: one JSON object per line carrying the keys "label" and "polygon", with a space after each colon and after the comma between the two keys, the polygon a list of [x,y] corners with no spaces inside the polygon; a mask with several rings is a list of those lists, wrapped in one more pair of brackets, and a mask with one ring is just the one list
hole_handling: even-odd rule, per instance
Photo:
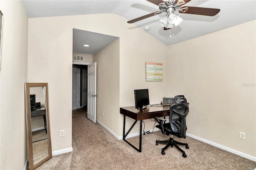
{"label": "beige hallway wall between the open white door and the desk", "polygon": [[[93,55],[97,62],[97,105],[96,119],[118,134],[119,129],[119,58],[120,41],[110,43]],[[104,115],[102,116],[102,112]]]}

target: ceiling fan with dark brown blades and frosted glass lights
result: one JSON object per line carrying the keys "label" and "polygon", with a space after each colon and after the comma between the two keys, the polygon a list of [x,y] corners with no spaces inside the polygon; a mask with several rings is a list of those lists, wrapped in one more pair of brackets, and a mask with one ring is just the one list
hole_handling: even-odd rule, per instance
{"label": "ceiling fan with dark brown blades and frosted glass lights", "polygon": [[[193,6],[183,6],[184,4],[190,2],[191,0],[147,0],[157,6],[159,6],[159,10],[157,12],[153,12],[151,14],[147,14],[141,16],[139,18],[135,18],[133,20],[128,21],[128,23],[134,23],[151,16],[155,16],[161,14],[162,12],[166,12],[166,16],[159,21],[159,24],[164,27],[164,30],[170,30],[173,28],[173,25],[178,26],[183,19],[180,16],[176,16],[174,14],[175,11],[179,11],[183,14],[196,14],[196,15],[204,15],[204,16],[215,16],[220,12],[220,9],[215,8],[202,8],[202,7],[193,7]],[[170,37],[171,34],[170,34]]]}

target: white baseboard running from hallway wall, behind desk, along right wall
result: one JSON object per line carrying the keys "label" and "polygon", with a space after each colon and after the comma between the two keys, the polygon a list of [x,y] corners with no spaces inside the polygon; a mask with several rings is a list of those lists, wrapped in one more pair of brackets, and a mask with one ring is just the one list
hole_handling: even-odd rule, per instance
{"label": "white baseboard running from hallway wall, behind desk, along right wall", "polygon": [[[115,136],[116,138],[118,138],[119,140],[122,140],[122,139],[123,139],[123,136],[118,136],[118,135],[115,134],[112,130],[110,130],[108,127],[106,127],[105,125],[103,125],[100,121],[98,121],[98,123],[99,123],[102,127],[104,127],[106,130],[108,130],[108,132],[110,132],[113,136]],[[152,130],[153,130],[153,129],[152,129]],[[150,130],[150,132],[152,132],[152,130]],[[154,132],[156,132],[156,131],[158,131],[158,130],[160,130],[160,129],[154,129]],[[139,135],[140,135],[139,132],[133,133],[133,134],[128,134],[128,135],[126,136],[126,138],[131,138],[131,137],[139,136]],[[251,156],[251,155],[249,155],[249,154],[245,154],[245,153],[243,153],[243,152],[240,152],[240,151],[237,151],[237,150],[228,148],[228,147],[226,147],[226,146],[223,146],[223,145],[220,145],[220,144],[211,142],[211,141],[209,141],[209,140],[206,140],[206,139],[204,139],[204,138],[200,138],[200,137],[198,137],[198,136],[195,136],[195,135],[192,135],[192,134],[189,134],[189,133],[186,133],[186,136],[189,136],[189,137],[194,138],[194,139],[196,139],[196,140],[200,140],[200,141],[202,141],[202,142],[204,142],[204,143],[210,144],[210,145],[212,145],[212,146],[216,146],[217,148],[226,150],[226,151],[228,151],[228,152],[231,152],[231,153],[233,153],[233,154],[237,154],[237,155],[239,155],[239,156],[242,156],[242,157],[244,157],[244,158],[247,158],[247,159],[250,159],[250,160],[253,160],[253,161],[256,162],[256,157]],[[255,169],[255,170],[256,170],[256,169]]]}

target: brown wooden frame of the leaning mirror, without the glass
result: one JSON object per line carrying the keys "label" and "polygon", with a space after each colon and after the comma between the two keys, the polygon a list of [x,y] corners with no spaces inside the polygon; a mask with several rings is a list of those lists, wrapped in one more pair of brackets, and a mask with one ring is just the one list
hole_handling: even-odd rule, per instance
{"label": "brown wooden frame of the leaning mirror, without the glass", "polygon": [[[34,165],[33,147],[32,147],[32,127],[31,127],[31,109],[30,109],[30,87],[45,87],[46,88],[46,125],[48,136],[48,156]],[[48,100],[48,83],[25,83],[25,103],[26,103],[26,127],[27,127],[27,151],[28,151],[28,168],[34,170],[44,162],[52,158],[52,144],[50,134],[50,117],[49,117],[49,100]]]}

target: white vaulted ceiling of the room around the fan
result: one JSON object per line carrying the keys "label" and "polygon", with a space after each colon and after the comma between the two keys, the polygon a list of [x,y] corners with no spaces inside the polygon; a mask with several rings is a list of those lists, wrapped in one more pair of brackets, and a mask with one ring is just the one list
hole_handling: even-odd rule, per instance
{"label": "white vaulted ceiling of the room around the fan", "polygon": [[[113,13],[126,18],[128,21],[159,11],[158,6],[146,0],[24,0],[23,2],[28,18]],[[200,16],[180,14],[176,11],[175,14],[180,16],[183,22],[171,29],[172,38],[169,38],[170,30],[163,30],[158,24],[158,21],[165,16],[164,12],[134,24],[142,30],[145,26],[149,26],[148,34],[166,45],[172,45],[256,19],[255,0],[191,0],[184,6],[218,8],[220,12],[216,16]],[[74,31],[76,34],[80,33],[77,37],[87,37],[86,39],[89,41],[88,33],[92,32],[86,32],[86,37],[84,37],[83,32],[77,31]],[[102,42],[105,44],[115,40],[112,36],[104,36]],[[110,38],[109,42],[108,38]],[[93,39],[95,40],[95,38]],[[78,40],[74,39],[74,41]],[[98,43],[99,41],[96,42],[96,44]],[[73,45],[75,49],[76,43]],[[95,51],[91,53],[95,53]]]}

